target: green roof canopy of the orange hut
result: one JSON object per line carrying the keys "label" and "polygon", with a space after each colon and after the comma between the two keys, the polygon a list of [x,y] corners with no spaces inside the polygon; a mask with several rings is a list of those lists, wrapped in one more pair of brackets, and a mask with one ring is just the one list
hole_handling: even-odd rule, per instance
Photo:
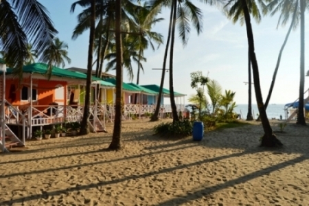
{"label": "green roof canopy of the orange hut", "polygon": [[[31,65],[26,65],[23,67],[24,73],[40,73],[46,74],[48,69],[48,65],[44,63],[34,63]],[[12,69],[7,69],[8,74],[12,73]],[[78,73],[75,71],[69,71],[67,69],[60,69],[59,67],[52,67],[52,76],[59,76],[65,78],[73,78],[73,79],[82,79],[86,80],[87,75],[84,73]],[[101,80],[100,78],[93,77],[92,80]]]}

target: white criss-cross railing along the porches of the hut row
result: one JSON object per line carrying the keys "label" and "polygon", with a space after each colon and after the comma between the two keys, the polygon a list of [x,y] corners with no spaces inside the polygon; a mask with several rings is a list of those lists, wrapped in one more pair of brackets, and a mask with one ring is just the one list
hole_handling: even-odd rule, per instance
{"label": "white criss-cross railing along the porches of the hut row", "polygon": [[[176,105],[177,111],[184,111],[184,105]],[[125,118],[136,115],[141,117],[145,114],[155,112],[155,105],[148,104],[125,104],[123,115]],[[165,117],[165,113],[172,113],[170,105],[161,106],[159,111],[160,117]],[[5,123],[26,126],[44,126],[48,124],[60,124],[62,122],[80,122],[84,114],[83,105],[5,105]],[[104,116],[105,114],[105,116]],[[94,116],[108,117],[114,119],[115,105],[98,104],[95,111],[95,105],[90,106],[89,117]]]}

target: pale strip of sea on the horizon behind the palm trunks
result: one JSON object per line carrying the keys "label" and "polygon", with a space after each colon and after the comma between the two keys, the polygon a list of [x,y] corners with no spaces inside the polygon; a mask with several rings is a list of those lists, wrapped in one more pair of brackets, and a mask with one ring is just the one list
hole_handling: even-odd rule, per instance
{"label": "pale strip of sea on the horizon behind the palm trunks", "polygon": [[[234,112],[240,114],[242,119],[247,118],[248,113],[248,104],[236,104],[236,108],[234,108]],[[256,104],[252,104],[252,115],[254,118],[257,118],[259,114],[258,106]],[[282,115],[282,119],[285,119],[284,113],[284,104],[268,104],[266,108],[266,114],[268,119],[280,119],[280,115]]]}

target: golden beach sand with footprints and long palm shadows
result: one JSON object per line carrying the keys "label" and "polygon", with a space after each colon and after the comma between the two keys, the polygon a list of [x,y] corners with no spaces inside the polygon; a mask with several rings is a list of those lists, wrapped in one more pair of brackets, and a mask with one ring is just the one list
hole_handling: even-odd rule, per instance
{"label": "golden beach sand with footprints and long palm shadows", "polygon": [[283,148],[260,148],[259,124],[201,142],[153,136],[155,124],[124,122],[119,152],[105,149],[108,124],[0,154],[0,205],[309,205],[309,127],[288,124]]}

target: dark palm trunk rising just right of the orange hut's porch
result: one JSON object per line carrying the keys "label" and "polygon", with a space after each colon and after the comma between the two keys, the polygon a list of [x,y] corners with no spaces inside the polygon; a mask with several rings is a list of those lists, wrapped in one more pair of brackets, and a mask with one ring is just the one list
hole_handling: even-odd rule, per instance
{"label": "dark palm trunk rising just right of the orange hut's porch", "polygon": [[89,34],[89,50],[88,50],[88,65],[87,65],[87,80],[86,80],[86,95],[84,98],[84,115],[80,125],[80,135],[89,133],[88,118],[90,108],[90,93],[91,93],[91,75],[93,61],[93,42],[95,38],[95,0],[91,1],[91,19],[90,19],[90,34]]}

